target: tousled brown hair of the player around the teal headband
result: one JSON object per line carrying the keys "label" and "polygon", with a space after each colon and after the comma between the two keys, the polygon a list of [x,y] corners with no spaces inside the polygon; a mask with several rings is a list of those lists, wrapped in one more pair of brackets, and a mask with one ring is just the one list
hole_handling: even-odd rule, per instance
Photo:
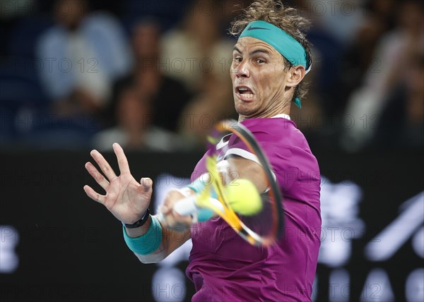
{"label": "tousled brown hair of the player around the teal headband", "polygon": [[[255,1],[243,13],[232,21],[230,25],[230,34],[239,36],[246,26],[255,20],[263,20],[278,28],[281,28],[288,35],[297,40],[306,51],[307,68],[312,64],[311,44],[307,41],[305,32],[310,28],[310,21],[300,16],[296,8],[285,7],[280,0],[262,0]],[[293,65],[284,59],[286,68]],[[304,97],[307,94],[307,83],[300,82],[295,88],[293,99],[296,97]]]}

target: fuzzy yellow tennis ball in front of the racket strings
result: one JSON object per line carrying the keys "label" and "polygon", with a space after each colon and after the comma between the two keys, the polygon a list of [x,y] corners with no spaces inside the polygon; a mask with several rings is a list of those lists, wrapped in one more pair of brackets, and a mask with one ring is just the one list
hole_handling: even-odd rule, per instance
{"label": "fuzzy yellow tennis ball in front of the racket strings", "polygon": [[227,199],[234,212],[251,216],[262,210],[262,200],[256,186],[248,179],[237,179],[227,186]]}

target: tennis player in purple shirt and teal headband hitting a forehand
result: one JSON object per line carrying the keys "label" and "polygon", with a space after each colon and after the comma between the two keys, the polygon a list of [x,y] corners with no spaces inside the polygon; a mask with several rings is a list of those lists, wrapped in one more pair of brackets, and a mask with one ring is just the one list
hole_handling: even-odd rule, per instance
{"label": "tennis player in purple shirt and teal headband hitting a forehand", "polygon": [[[230,30],[238,36],[230,71],[235,109],[266,152],[284,196],[285,232],[275,245],[251,246],[223,219],[192,226],[191,217],[172,211],[177,200],[195,193],[195,184],[168,193],[161,209],[166,220],[160,223],[148,211],[152,181],[131,176],[122,147],[113,145],[119,176],[99,152],[91,152],[106,177],[90,162],[86,169],[106,195],[89,186],[84,190],[123,222],[126,243],[141,262],[163,260],[192,238],[187,267],[196,287],[192,301],[311,301],[321,229],[319,167],[289,116],[293,102],[301,106],[302,80],[312,65],[302,33],[308,25],[294,8],[263,0],[249,6]],[[260,169],[252,154],[242,144],[228,144],[240,177],[252,179]],[[204,158],[194,171],[207,171]]]}

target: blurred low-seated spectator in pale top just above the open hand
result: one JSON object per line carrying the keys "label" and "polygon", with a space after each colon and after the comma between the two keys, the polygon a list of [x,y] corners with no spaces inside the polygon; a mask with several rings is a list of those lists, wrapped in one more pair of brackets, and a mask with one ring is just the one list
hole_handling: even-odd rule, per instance
{"label": "blurred low-seated spectator in pale top just above the open hand", "polygon": [[177,135],[152,125],[151,105],[138,89],[126,87],[117,102],[117,126],[95,135],[93,147],[112,150],[112,144],[119,143],[126,150],[180,150],[182,142]]}

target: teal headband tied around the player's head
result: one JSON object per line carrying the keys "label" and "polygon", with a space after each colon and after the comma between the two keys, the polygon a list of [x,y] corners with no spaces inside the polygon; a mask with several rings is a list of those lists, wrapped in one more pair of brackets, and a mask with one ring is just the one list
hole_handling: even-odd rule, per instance
{"label": "teal headband tied around the player's head", "polygon": [[[293,64],[293,66],[302,65],[305,67],[306,73],[308,73],[312,67],[311,65],[307,66],[307,54],[302,44],[276,25],[262,20],[252,21],[246,26],[245,30],[243,30],[239,39],[242,37],[254,37],[255,39],[270,44],[277,52],[284,56],[290,64]],[[296,97],[294,102],[301,108],[299,97]]]}

